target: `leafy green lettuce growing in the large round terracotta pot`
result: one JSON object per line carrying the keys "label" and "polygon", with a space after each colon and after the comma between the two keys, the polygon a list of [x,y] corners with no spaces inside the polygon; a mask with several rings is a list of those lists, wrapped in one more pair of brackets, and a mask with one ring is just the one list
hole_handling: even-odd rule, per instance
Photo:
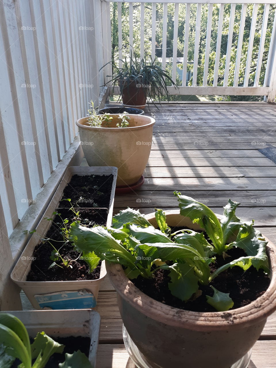
{"label": "leafy green lettuce growing in the large round terracotta pot", "polygon": [[[199,285],[208,285],[228,268],[239,266],[247,270],[254,266],[269,272],[265,239],[255,230],[253,222],[242,222],[235,215],[239,203],[229,199],[219,220],[215,213],[191,197],[174,192],[179,201],[180,214],[197,223],[203,232],[181,229],[172,232],[166,222],[166,214],[155,209],[159,229],[155,229],[138,210],[127,208],[113,217],[110,229],[96,226],[86,228],[76,221],[71,224],[70,239],[78,251],[94,252],[109,262],[120,263],[130,279],[139,275],[151,279],[156,271],[169,271],[168,287],[173,296],[187,301],[197,295]],[[233,241],[234,240],[234,241]],[[231,261],[215,272],[210,263],[216,255],[227,259],[227,251],[241,248],[246,256]],[[216,290],[207,302],[217,311],[225,311],[234,303],[229,294]]]}

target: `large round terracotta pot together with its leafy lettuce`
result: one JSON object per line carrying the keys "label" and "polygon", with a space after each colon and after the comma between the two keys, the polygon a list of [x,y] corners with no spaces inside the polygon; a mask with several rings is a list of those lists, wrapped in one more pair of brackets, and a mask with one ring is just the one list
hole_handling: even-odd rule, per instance
{"label": "large round terracotta pot together with its leafy lettuce", "polygon": [[[110,229],[75,222],[70,233],[79,250],[107,260],[124,326],[148,365],[229,368],[276,309],[275,247],[235,215],[237,202],[218,216],[174,194],[179,210],[143,216],[127,208]],[[242,283],[251,299],[234,291]]]}

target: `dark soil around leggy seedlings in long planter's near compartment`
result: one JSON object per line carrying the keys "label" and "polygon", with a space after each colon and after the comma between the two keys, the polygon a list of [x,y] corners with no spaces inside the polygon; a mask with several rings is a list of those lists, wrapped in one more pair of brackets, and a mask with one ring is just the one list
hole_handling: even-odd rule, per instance
{"label": "dark soil around leggy seedlings in long planter's near compartment", "polygon": [[[58,209],[58,211],[63,219],[71,219],[74,220],[74,213],[68,209]],[[95,225],[106,225],[107,221],[107,209],[101,208],[85,208],[80,209],[80,216],[82,219],[82,223],[90,223],[88,227]],[[62,236],[60,234],[60,229],[57,226],[56,222],[60,222],[60,217],[56,216],[54,222],[50,229],[47,231],[45,238],[51,238],[55,241],[61,241]],[[70,223],[70,221],[69,221]],[[59,247],[59,244],[51,242],[56,249]],[[36,245],[35,250],[33,252],[33,259],[31,270],[28,273],[27,281],[78,281],[78,280],[96,280],[100,277],[100,266],[95,268],[95,270],[89,273],[88,264],[80,259],[77,259],[79,256],[79,252],[72,247],[71,243],[67,243],[63,245],[60,249],[60,254],[63,258],[72,259],[73,261],[70,263],[72,268],[65,267],[61,260],[56,261],[63,268],[55,265],[49,269],[49,266],[53,263],[53,260],[50,259],[52,252],[54,251],[52,245],[49,242],[39,243]]]}

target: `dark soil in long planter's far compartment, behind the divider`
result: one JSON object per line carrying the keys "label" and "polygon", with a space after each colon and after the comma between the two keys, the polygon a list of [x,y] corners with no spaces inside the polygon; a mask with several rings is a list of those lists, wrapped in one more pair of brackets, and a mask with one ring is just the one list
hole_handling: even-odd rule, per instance
{"label": "dark soil in long planter's far compartment, behind the divider", "polygon": [[[113,175],[73,175],[70,183],[63,191],[62,199],[71,199],[75,207],[106,207],[109,208]],[[82,198],[82,199],[80,199]],[[70,202],[60,201],[61,208],[70,208]]]}

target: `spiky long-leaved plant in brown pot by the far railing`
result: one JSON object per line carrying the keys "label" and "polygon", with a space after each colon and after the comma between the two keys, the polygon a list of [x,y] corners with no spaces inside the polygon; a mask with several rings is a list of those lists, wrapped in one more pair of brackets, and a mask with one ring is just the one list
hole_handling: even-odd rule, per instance
{"label": "spiky long-leaved plant in brown pot by the far railing", "polygon": [[[147,58],[145,56],[139,59],[135,51],[121,60],[123,66],[118,67],[117,61],[110,61],[113,68],[113,75],[109,75],[112,79],[108,82],[111,87],[120,87],[120,97],[122,97],[123,105],[129,107],[139,107],[144,109],[148,99],[153,103],[157,100],[160,103],[162,97],[166,96],[169,100],[166,80],[176,87],[171,77],[162,66],[157,65],[156,58]],[[106,64],[106,65],[107,65]],[[120,98],[119,97],[119,98]]]}

